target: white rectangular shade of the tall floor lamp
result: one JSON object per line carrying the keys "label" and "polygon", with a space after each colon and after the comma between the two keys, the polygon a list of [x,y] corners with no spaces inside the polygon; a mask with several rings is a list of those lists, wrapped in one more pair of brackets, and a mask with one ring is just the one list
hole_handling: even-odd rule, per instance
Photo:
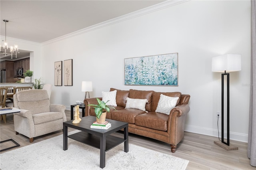
{"label": "white rectangular shade of the tall floor lamp", "polygon": [[212,58],[213,72],[231,72],[241,70],[240,54],[225,54]]}

